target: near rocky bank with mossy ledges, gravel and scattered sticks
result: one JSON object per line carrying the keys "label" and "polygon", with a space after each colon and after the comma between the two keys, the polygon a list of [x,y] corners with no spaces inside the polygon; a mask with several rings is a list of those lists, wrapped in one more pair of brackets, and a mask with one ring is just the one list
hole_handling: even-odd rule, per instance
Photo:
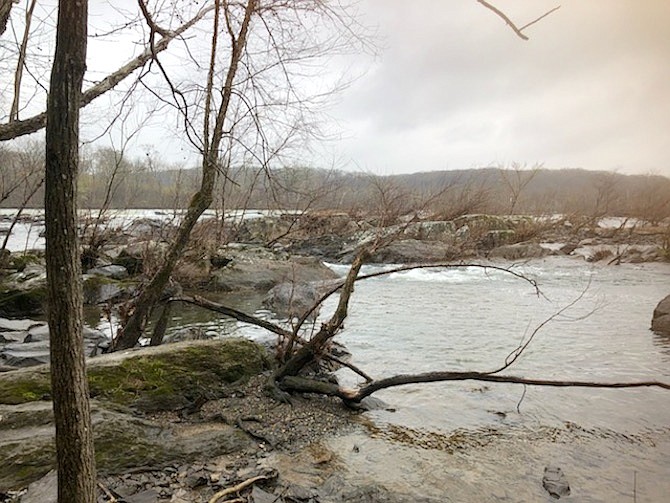
{"label": "near rocky bank with mossy ledges, gravel and scattered sticks", "polygon": [[[213,370],[205,352],[193,353],[203,348],[221,355],[220,369]],[[266,349],[247,341],[200,341],[91,361],[98,501],[211,501],[250,479],[256,483],[238,491],[251,495],[244,501],[349,501],[353,489],[333,484],[337,459],[322,441],[361,428],[357,412],[316,395],[295,396],[290,404],[268,397],[269,376],[262,370],[268,358]],[[151,380],[158,368],[160,389]],[[201,368],[216,379],[203,375],[176,389],[177,381]],[[201,382],[211,386],[195,384]],[[0,450],[6,456],[0,501],[55,502],[48,369],[5,373],[0,387]],[[296,470],[311,474],[309,484],[292,476]]]}

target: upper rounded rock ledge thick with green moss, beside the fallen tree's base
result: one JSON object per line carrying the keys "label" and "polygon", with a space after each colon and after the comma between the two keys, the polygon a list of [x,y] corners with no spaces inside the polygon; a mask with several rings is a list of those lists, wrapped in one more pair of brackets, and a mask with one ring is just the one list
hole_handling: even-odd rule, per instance
{"label": "upper rounded rock ledge thick with green moss, beside the fallen tree's base", "polygon": [[[246,339],[192,341],[103,355],[88,362],[91,397],[142,412],[177,410],[220,396],[225,385],[262,372],[267,350]],[[50,398],[44,366],[0,374],[0,404]]]}

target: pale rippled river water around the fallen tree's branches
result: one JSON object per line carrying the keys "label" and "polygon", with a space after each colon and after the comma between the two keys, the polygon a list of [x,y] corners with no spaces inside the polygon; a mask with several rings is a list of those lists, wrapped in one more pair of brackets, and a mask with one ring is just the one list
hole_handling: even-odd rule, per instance
{"label": "pale rippled river water around the fallen tree's branches", "polygon": [[[669,293],[668,265],[589,265],[549,257],[514,269],[536,279],[542,295],[514,276],[478,268],[361,282],[340,340],[374,377],[491,370],[539,324],[581,296],[537,332],[508,373],[670,381],[670,339],[649,330],[654,307]],[[324,315],[333,308],[334,301]],[[356,382],[351,373],[340,373],[345,384]],[[393,411],[367,412],[365,433],[329,441],[352,483],[383,484],[418,500],[554,501],[541,485],[544,467],[551,464],[562,468],[571,485],[562,501],[668,501],[667,391],[524,390],[466,381],[375,396]]]}

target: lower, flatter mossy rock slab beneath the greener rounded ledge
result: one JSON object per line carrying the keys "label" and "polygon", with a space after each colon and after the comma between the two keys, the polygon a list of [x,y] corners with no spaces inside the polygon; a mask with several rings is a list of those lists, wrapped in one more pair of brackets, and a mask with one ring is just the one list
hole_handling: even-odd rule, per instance
{"label": "lower, flatter mossy rock slab beneath the greener rounded ledge", "polygon": [[[165,426],[92,402],[96,467],[101,474],[138,466],[160,468],[202,456],[242,451],[250,440],[239,430],[216,424],[209,430]],[[55,468],[53,412],[48,402],[0,405],[0,493],[21,489]]]}

